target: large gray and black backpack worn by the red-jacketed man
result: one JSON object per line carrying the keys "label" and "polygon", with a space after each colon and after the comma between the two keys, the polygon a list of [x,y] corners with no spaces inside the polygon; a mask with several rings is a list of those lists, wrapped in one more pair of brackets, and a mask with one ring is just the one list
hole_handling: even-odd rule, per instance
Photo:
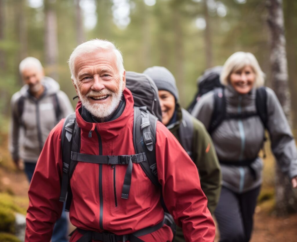
{"label": "large gray and black backpack worn by the red-jacketed man", "polygon": [[[75,113],[66,117],[62,129],[61,147],[63,175],[60,201],[66,201],[65,210],[69,211],[72,192],[69,180],[78,161],[98,164],[128,164],[124,177],[121,198],[128,199],[131,185],[133,163],[138,163],[151,182],[160,186],[156,165],[156,125],[157,117],[162,118],[158,99],[158,89],[150,77],[142,73],[126,72],[126,87],[134,98],[133,144],[136,154],[133,155],[87,155],[80,151],[80,128]],[[137,87],[137,88],[136,88]],[[141,106],[140,105],[147,105]],[[154,114],[154,115],[153,115]],[[116,202],[117,206],[117,202]],[[164,207],[165,212],[167,209]],[[165,213],[163,221],[171,227],[175,234],[176,225],[170,214]],[[138,235],[140,236],[140,235]]]}

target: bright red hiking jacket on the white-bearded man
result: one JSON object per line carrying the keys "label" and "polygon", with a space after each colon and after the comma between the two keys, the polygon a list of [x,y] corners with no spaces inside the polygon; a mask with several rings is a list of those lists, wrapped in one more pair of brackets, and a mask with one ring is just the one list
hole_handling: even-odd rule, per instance
{"label": "bright red hiking jacket on the white-bearded man", "polygon": [[[79,114],[81,128],[80,153],[92,155],[132,155],[133,97],[124,90],[126,106],[119,118],[110,122],[89,123]],[[99,135],[89,131],[95,125]],[[29,188],[29,208],[26,217],[25,241],[50,241],[53,224],[60,216],[63,203],[61,191],[62,158],[61,132],[63,120],[50,132],[43,147]],[[170,131],[157,123],[156,160],[158,180],[165,205],[178,226],[183,228],[187,241],[213,242],[215,227],[207,209],[207,199],[200,188],[198,171],[187,153]],[[100,153],[102,152],[102,153]],[[116,169],[116,199],[114,195],[114,169]],[[103,230],[124,235],[162,221],[164,211],[160,204],[160,191],[145,175],[139,164],[133,163],[131,188],[128,199],[121,198],[127,165],[78,162],[70,185],[73,194],[69,217],[71,223],[84,230]],[[75,232],[70,241],[81,234]],[[172,232],[167,225],[151,234],[139,237],[143,241],[171,241]]]}

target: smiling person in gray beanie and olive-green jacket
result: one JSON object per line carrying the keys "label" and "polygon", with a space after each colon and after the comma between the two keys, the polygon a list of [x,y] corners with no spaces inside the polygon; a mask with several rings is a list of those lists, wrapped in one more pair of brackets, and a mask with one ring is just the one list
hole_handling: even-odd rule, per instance
{"label": "smiling person in gray beanie and olive-green jacket", "polygon": [[[221,170],[206,128],[202,122],[181,108],[175,78],[167,68],[154,66],[147,68],[143,73],[155,82],[159,92],[162,123],[196,164],[201,188],[208,199],[207,207],[214,213],[221,191]],[[185,125],[189,122],[191,125]],[[185,241],[184,235],[182,229],[177,227],[175,242],[181,241]]]}

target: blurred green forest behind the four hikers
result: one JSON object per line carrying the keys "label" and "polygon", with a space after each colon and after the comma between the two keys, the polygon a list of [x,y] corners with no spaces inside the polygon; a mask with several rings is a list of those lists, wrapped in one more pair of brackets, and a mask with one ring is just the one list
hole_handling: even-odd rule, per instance
{"label": "blurred green forest behind the four hikers", "polygon": [[[34,56],[40,59],[45,74],[56,79],[72,100],[75,89],[67,65],[72,50],[93,38],[110,40],[122,52],[126,70],[143,72],[153,65],[167,67],[176,78],[181,104],[187,107],[197,92],[196,81],[203,71],[223,65],[236,51],[252,52],[266,73],[266,86],[273,87],[268,2],[0,0],[0,168],[5,169],[5,174],[15,172],[7,151],[9,107],[12,94],[23,85],[18,71],[23,58]],[[293,133],[297,134],[297,105],[294,105],[297,91],[297,1],[283,0],[282,3],[290,115]],[[76,102],[72,101],[73,106]],[[269,150],[269,143],[266,146]],[[269,152],[265,163],[266,189],[260,199],[274,196],[274,162]],[[0,174],[2,176],[1,170]],[[4,178],[0,179],[0,192],[18,193],[7,188],[9,182]],[[295,196],[292,201],[296,203],[296,199]],[[294,218],[297,221],[297,217]]]}

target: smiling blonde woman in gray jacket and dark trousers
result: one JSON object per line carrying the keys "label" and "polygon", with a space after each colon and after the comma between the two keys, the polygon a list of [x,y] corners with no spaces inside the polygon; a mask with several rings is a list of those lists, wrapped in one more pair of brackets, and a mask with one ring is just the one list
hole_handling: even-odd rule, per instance
{"label": "smiling blonde woman in gray jacket and dark trousers", "polygon": [[192,115],[204,123],[221,164],[222,191],[215,216],[220,242],[247,242],[262,183],[258,156],[268,130],[271,150],[281,170],[297,187],[297,150],[282,107],[263,87],[264,73],[251,53],[236,52],[220,75],[224,88],[203,95]]}

